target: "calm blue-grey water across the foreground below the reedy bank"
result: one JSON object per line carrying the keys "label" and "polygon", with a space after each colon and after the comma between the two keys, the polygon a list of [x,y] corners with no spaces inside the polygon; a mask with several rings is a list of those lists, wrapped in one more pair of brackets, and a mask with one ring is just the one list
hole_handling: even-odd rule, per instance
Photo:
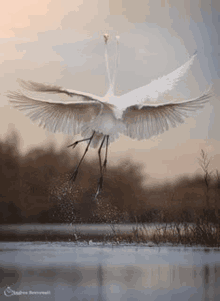
{"label": "calm blue-grey water across the foreground below the reedy bank", "polygon": [[220,300],[220,253],[2,242],[0,278],[0,300]]}

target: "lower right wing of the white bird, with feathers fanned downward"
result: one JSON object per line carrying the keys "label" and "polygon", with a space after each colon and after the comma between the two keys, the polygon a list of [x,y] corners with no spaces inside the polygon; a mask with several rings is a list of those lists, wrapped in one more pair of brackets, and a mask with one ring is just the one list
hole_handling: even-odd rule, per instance
{"label": "lower right wing of the white bird, with feathers fanned downward", "polygon": [[141,140],[162,134],[169,127],[183,123],[189,112],[202,108],[211,96],[207,91],[198,98],[178,103],[130,106],[122,115],[126,124],[125,135]]}

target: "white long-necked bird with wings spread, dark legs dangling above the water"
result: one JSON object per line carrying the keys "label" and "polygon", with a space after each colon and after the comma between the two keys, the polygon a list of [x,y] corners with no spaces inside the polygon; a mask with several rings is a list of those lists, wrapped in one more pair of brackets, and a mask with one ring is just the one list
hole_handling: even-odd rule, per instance
{"label": "white long-necked bird with wings spread, dark legs dangling above the water", "polygon": [[[24,111],[32,121],[38,121],[40,126],[42,125],[51,132],[61,131],[70,135],[81,134],[85,138],[76,141],[69,147],[72,146],[74,148],[79,142],[88,141],[86,150],[71,177],[72,180],[75,180],[79,166],[89,146],[96,148],[100,143],[98,155],[101,176],[96,196],[103,184],[108,145],[118,139],[120,134],[137,140],[149,139],[152,136],[162,134],[169,127],[175,127],[183,123],[189,112],[202,108],[211,97],[210,92],[206,91],[198,98],[186,101],[149,104],[149,100],[158,100],[175,87],[181,77],[189,70],[196,54],[170,74],[153,80],[150,84],[122,96],[114,95],[119,37],[116,37],[117,56],[112,79],[107,52],[109,35],[105,34],[104,39],[105,61],[109,80],[109,89],[104,97],[32,81],[21,81],[21,84],[24,88],[33,92],[65,93],[72,97],[73,101],[71,103],[58,103],[30,98],[21,92],[8,94],[12,105]],[[106,147],[106,152],[102,165],[101,149],[104,146]]]}

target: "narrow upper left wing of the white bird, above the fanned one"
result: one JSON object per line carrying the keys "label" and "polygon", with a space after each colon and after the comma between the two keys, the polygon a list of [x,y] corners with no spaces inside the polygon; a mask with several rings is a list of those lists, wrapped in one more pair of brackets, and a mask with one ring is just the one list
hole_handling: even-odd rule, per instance
{"label": "narrow upper left wing of the white bird, above the fanned one", "polygon": [[87,100],[87,101],[99,99],[98,96],[94,96],[89,93],[84,93],[84,92],[82,93],[80,91],[64,89],[64,88],[62,88],[60,86],[56,86],[56,85],[36,83],[33,81],[24,81],[21,79],[19,80],[19,82],[23,88],[25,88],[26,90],[32,91],[32,92],[67,94],[68,96],[71,96],[71,97],[80,96],[80,100]]}

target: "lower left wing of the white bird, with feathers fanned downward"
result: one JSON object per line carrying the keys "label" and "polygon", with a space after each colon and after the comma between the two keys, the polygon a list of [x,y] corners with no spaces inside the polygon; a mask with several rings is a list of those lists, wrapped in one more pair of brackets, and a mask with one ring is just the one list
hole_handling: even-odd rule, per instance
{"label": "lower left wing of the white bird, with feathers fanned downward", "polygon": [[16,109],[24,111],[39,126],[51,132],[60,131],[72,135],[81,133],[82,126],[97,117],[102,109],[100,101],[85,99],[84,95],[75,95],[76,102],[71,103],[36,100],[20,92],[11,92],[7,96]]}

